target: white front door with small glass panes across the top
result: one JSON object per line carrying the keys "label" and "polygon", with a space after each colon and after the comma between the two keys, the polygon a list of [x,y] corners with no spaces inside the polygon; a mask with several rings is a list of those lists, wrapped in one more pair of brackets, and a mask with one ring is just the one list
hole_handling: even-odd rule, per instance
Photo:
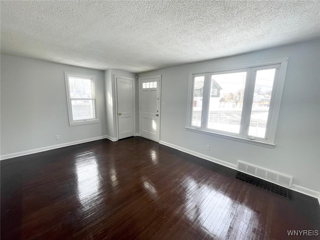
{"label": "white front door with small glass panes across the top", "polygon": [[161,76],[142,77],[140,80],[140,135],[160,140],[160,80]]}

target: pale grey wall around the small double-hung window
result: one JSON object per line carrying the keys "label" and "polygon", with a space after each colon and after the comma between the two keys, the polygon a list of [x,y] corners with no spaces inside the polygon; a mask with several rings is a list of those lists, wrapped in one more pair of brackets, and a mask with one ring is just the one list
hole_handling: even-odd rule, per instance
{"label": "pale grey wall around the small double-hung window", "polygon": [[[99,123],[69,126],[64,71],[97,76]],[[101,70],[1,54],[1,156],[105,135],[103,89]]]}

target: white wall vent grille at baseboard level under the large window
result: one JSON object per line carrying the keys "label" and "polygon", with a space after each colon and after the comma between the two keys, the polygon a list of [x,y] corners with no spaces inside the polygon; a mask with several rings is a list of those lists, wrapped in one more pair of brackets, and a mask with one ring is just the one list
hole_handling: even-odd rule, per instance
{"label": "white wall vent grille at baseboard level under the large window", "polygon": [[293,177],[286,176],[278,172],[270,171],[268,169],[258,167],[252,164],[248,164],[243,161],[237,161],[238,170],[247,172],[251,175],[258,176],[260,178],[266,179],[268,181],[274,182],[276,184],[280,184],[283,186],[291,187]]}

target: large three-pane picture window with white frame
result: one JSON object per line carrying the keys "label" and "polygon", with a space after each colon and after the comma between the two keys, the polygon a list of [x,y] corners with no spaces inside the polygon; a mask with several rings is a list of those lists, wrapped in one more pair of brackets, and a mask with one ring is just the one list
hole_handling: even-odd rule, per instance
{"label": "large three-pane picture window with white frame", "polygon": [[190,72],[186,128],[274,145],[287,60]]}

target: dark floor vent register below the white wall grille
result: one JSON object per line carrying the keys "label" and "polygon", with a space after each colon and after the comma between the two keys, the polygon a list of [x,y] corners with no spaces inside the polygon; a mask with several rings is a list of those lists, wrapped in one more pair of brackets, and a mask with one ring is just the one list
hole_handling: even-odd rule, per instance
{"label": "dark floor vent register below the white wall grille", "polygon": [[290,190],[284,186],[279,186],[279,185],[274,184],[272,182],[251,176],[251,175],[243,173],[243,172],[238,172],[236,174],[235,178],[239,179],[241,181],[244,181],[246,183],[249,183],[251,185],[257,186],[261,189],[275,193],[275,194],[282,196],[286,199],[293,200],[292,199],[292,190]]}

